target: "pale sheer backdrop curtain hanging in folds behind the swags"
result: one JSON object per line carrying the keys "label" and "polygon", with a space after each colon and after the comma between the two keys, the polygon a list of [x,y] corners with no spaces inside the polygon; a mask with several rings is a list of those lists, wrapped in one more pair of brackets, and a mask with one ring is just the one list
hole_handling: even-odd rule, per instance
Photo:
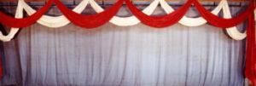
{"label": "pale sheer backdrop curtain hanging in folds behind the swags", "polygon": [[[240,8],[230,9],[237,13]],[[154,12],[162,13],[160,8]],[[60,12],[52,8],[49,14]],[[122,8],[119,14],[130,13]],[[197,13],[189,9],[187,15]],[[245,41],[207,24],[154,29],[108,23],[91,30],[34,24],[3,47],[1,84],[241,86],[244,80]]]}

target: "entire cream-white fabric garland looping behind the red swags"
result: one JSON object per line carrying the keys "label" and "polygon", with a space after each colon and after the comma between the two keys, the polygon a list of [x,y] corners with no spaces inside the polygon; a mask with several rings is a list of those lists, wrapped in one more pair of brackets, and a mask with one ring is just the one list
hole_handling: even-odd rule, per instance
{"label": "entire cream-white fabric garland looping behind the red swags", "polygon": [[[104,11],[104,9],[102,9],[102,7],[100,7],[94,0],[83,0],[81,3],[79,3],[79,5],[75,9],[73,9],[73,11],[80,14],[86,8],[88,3],[90,3],[92,9],[94,9],[97,13]],[[155,0],[153,3],[150,3],[150,5],[146,9],[143,9],[143,13],[148,15],[152,14],[159,3],[162,9],[164,9],[167,14],[170,14],[174,11],[174,9],[172,9],[172,7],[169,6],[168,3],[166,3],[166,1]],[[18,9],[16,10],[16,15],[15,15],[16,18],[22,17],[23,9],[25,9],[26,13],[29,15],[32,15],[36,12],[36,10],[32,9],[28,4],[24,2],[24,0],[19,0],[17,8]],[[223,9],[224,11],[224,18],[231,18],[229,5],[226,0],[222,0],[218,4],[218,6],[212,10],[212,14],[218,14],[221,9]],[[256,14],[256,10],[254,10],[254,13]],[[140,20],[138,20],[134,15],[130,17],[113,16],[110,22],[117,26],[134,26],[140,23]],[[183,26],[201,26],[203,24],[206,24],[207,20],[204,20],[202,17],[188,18],[186,16],[183,16],[183,18],[178,22]],[[43,15],[42,18],[38,20],[38,23],[48,27],[61,27],[61,26],[66,26],[68,23],[70,23],[70,21],[67,20],[67,18],[64,15],[57,16],[57,17]],[[2,40],[3,42],[10,41],[18,32],[18,30],[19,30],[18,28],[12,28],[11,31],[9,32],[9,35],[7,36],[3,36],[1,32],[0,40]],[[242,40],[246,37],[246,32],[244,33],[239,32],[236,26],[228,28],[226,31],[229,34],[229,36],[235,40]]]}

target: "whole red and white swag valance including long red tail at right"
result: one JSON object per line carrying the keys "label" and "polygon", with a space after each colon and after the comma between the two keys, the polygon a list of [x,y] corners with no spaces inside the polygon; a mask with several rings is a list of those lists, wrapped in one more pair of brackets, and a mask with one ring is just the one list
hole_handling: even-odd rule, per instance
{"label": "whole red and white swag valance including long red tail at right", "polygon": [[[55,3],[57,8],[61,10],[63,15],[61,16],[49,16],[44,15],[50,6]],[[95,9],[98,14],[84,15],[81,12],[86,8],[87,4],[91,5],[92,9]],[[134,14],[130,17],[119,17],[115,16],[119,11],[119,8],[126,4],[126,6],[131,10],[131,13]],[[150,16],[154,12],[154,9],[158,6],[165,10],[166,15],[162,16]],[[198,18],[189,18],[184,16],[189,7],[194,4],[195,8],[201,14],[201,17]],[[23,17],[23,9],[30,16]],[[218,17],[220,10],[223,10],[224,18]],[[0,40],[3,42],[10,41],[15,34],[19,31],[19,28],[31,26],[33,23],[38,22],[43,26],[49,27],[61,27],[66,26],[70,22],[76,26],[83,27],[85,29],[92,29],[98,26],[102,26],[108,21],[113,23],[116,26],[133,26],[140,22],[147,26],[152,26],[155,28],[162,28],[166,26],[172,26],[175,23],[180,23],[183,26],[201,26],[210,23],[212,26],[217,26],[223,28],[227,31],[230,37],[235,40],[242,40],[247,37],[247,62],[246,62],[246,71],[245,75],[247,78],[256,83],[256,43],[255,43],[255,1],[252,1],[245,11],[236,17],[231,17],[229,5],[226,0],[222,0],[218,7],[212,10],[212,12],[205,9],[201,3],[197,0],[188,0],[182,7],[177,10],[172,9],[166,1],[164,0],[154,0],[153,3],[150,3],[146,9],[141,11],[131,3],[130,0],[119,0],[117,3],[114,3],[108,9],[102,9],[95,1],[93,0],[83,0],[79,5],[73,10],[68,9],[64,4],[59,0],[49,0],[48,3],[44,5],[41,9],[36,11],[27,5],[23,0],[19,0],[15,18],[10,17],[7,14],[0,12],[0,22],[4,26],[12,27],[11,31],[7,36],[4,36],[0,32]],[[237,25],[241,24],[243,21],[247,20],[247,32],[239,32],[236,28]]]}

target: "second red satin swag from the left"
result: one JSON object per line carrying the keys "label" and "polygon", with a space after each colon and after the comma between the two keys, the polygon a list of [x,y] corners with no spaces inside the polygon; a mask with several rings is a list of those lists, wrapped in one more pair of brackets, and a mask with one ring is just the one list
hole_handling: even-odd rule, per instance
{"label": "second red satin swag from the left", "polygon": [[55,0],[56,6],[68,20],[70,20],[74,25],[84,28],[95,28],[107,23],[115,14],[117,14],[123,3],[124,0],[119,0],[117,3],[114,3],[111,7],[99,14],[83,15],[73,12],[73,10],[68,9],[59,0]]}

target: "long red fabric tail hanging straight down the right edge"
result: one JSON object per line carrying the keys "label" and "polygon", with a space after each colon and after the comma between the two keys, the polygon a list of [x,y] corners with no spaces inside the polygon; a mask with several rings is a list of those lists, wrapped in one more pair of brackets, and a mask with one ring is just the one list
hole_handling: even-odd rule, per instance
{"label": "long red fabric tail hanging straight down the right edge", "polygon": [[256,43],[254,13],[250,14],[247,23],[247,54],[245,76],[256,84]]}

